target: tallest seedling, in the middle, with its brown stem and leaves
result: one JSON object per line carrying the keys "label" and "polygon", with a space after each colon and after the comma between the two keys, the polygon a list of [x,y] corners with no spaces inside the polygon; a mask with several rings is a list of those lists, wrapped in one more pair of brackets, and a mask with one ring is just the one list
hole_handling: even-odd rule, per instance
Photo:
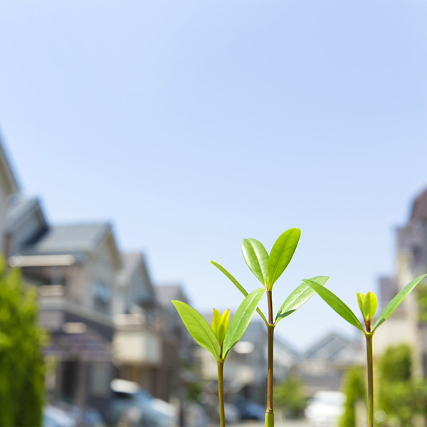
{"label": "tallest seedling, in the middle, with its brown stem and leaves", "polygon": [[[305,304],[315,291],[310,286],[302,283],[298,286],[283,302],[276,317],[273,317],[273,285],[280,278],[285,268],[288,267],[290,260],[297,248],[298,241],[300,241],[301,231],[299,228],[290,228],[285,231],[277,241],[275,241],[273,248],[271,249],[270,255],[265,250],[262,243],[253,239],[246,238],[242,243],[243,258],[245,258],[246,264],[251,269],[252,273],[256,278],[263,284],[265,293],[267,295],[268,302],[268,320],[259,308],[256,310],[258,314],[265,322],[268,330],[268,374],[267,374],[267,409],[265,411],[265,426],[274,426],[274,411],[273,411],[273,346],[274,346],[274,329],[278,322],[285,317],[291,315],[301,305]],[[227,276],[228,279],[240,290],[243,295],[248,295],[248,292],[238,281],[228,273],[218,263],[212,264],[221,270],[221,272]],[[320,287],[325,285],[329,278],[325,276],[318,276],[312,278],[314,283],[317,283]]]}

